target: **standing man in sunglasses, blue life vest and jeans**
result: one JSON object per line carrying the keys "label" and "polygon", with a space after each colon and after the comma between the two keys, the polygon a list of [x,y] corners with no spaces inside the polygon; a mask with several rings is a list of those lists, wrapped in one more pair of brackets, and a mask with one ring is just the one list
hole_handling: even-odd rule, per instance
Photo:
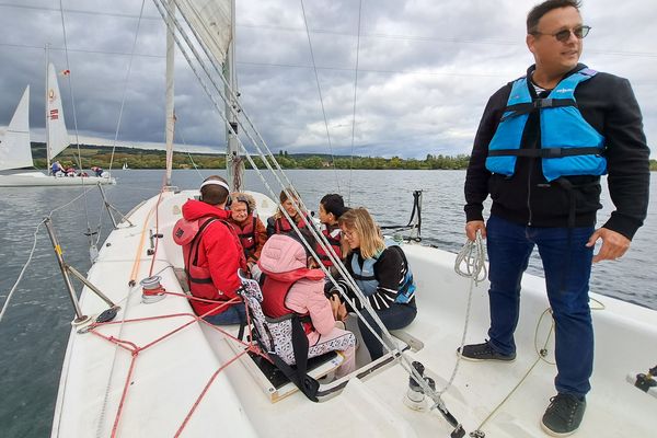
{"label": "standing man in sunglasses, blue life vest and jeans", "polygon": [[[535,65],[489,99],[465,178],[465,232],[488,241],[489,341],[466,345],[464,359],[516,358],[520,279],[538,246],[556,326],[557,394],[541,426],[567,436],[579,427],[590,390],[593,331],[588,304],[591,263],[630,247],[648,204],[649,150],[626,79],[578,64],[579,1],[548,0],[527,16]],[[595,229],[600,175],[615,211]],[[483,201],[493,206],[487,224]],[[593,245],[601,241],[593,255]]]}

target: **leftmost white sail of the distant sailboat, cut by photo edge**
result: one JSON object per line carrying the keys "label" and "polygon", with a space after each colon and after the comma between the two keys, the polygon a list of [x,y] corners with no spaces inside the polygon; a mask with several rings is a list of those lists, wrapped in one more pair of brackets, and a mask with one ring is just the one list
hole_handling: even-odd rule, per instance
{"label": "leftmost white sail of the distant sailboat, cut by photo edge", "polygon": [[0,143],[0,170],[32,166],[30,148],[30,85],[16,106]]}

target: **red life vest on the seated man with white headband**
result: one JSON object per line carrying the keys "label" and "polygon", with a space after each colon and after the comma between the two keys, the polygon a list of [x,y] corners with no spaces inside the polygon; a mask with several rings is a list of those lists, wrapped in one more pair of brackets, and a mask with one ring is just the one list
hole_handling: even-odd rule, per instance
{"label": "red life vest on the seated man with white headband", "polygon": [[[228,301],[228,297],[223,293],[219,293],[212,281],[210,269],[207,267],[198,266],[198,247],[200,245],[200,239],[210,223],[219,221],[228,227],[234,234],[234,230],[223,219],[215,217],[204,217],[196,220],[178,219],[173,227],[173,240],[178,245],[183,246],[183,257],[185,261],[185,274],[187,274],[187,286],[194,297],[204,298],[208,300]],[[196,314],[204,314],[216,304],[201,302],[196,300],[189,300],[192,308]],[[222,308],[221,311],[227,308]],[[217,313],[221,313],[217,312]]]}

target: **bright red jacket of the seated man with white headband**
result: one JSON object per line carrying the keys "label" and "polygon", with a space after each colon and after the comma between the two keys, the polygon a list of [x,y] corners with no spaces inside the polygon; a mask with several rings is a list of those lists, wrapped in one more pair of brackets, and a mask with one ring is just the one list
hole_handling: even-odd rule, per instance
{"label": "bright red jacket of the seated man with white headband", "polygon": [[[230,218],[230,211],[219,209],[200,200],[189,199],[183,205],[183,218],[188,221],[201,218],[220,219],[208,224],[204,230],[198,244],[198,260],[196,262],[196,266],[209,270],[215,287],[214,293],[208,293],[204,288],[200,288],[204,290],[195,290],[194,284],[192,284],[192,295],[212,300],[235,298],[235,290],[241,286],[238,278],[238,269],[245,269],[246,261],[239,238],[232,227],[226,223]],[[196,300],[192,300],[191,302],[194,311],[199,315],[217,307],[216,303],[206,303]],[[218,314],[226,309],[228,307],[223,307],[209,314]]]}

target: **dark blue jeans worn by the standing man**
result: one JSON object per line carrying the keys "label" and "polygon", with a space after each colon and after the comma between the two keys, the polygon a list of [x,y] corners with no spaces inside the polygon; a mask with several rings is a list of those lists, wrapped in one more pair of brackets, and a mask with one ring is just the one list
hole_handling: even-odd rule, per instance
{"label": "dark blue jeans worn by the standing man", "polygon": [[516,351],[514,332],[520,309],[520,279],[534,247],[543,263],[548,299],[555,323],[554,384],[560,393],[584,396],[593,368],[593,326],[588,290],[593,249],[585,244],[593,227],[537,228],[496,216],[486,227],[493,348]]}

